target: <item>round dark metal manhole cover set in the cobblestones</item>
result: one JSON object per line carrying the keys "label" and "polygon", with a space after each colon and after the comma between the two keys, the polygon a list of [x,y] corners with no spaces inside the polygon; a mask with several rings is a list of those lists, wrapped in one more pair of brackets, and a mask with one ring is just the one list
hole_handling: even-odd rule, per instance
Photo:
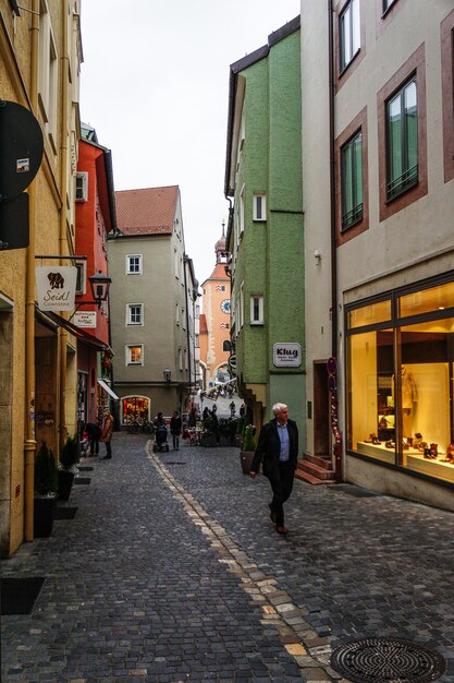
{"label": "round dark metal manhole cover set in the cobblestones", "polygon": [[446,670],[429,647],[401,638],[365,638],[338,647],[331,667],[353,683],[428,683]]}

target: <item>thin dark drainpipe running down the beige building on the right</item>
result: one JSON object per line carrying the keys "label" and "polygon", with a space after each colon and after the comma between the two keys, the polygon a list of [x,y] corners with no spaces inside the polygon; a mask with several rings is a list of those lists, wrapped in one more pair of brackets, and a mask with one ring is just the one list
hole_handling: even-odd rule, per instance
{"label": "thin dark drainpipe running down the beige building on the right", "polygon": [[[333,2],[328,0],[328,43],[329,43],[329,116],[330,116],[330,208],[331,208],[331,355],[338,357],[338,250],[335,232],[335,154],[334,154],[334,31]],[[336,367],[338,363],[335,363]],[[342,433],[339,429],[338,382],[331,390],[331,432],[334,436],[335,480],[342,481]]]}

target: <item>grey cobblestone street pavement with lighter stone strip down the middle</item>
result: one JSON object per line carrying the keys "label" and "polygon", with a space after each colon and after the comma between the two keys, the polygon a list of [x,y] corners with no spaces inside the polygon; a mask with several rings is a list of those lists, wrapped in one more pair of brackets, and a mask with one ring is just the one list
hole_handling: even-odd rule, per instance
{"label": "grey cobblestone street pavement with lighter stone strip down the middle", "polygon": [[3,682],[327,683],[338,645],[388,636],[454,683],[451,513],[296,481],[282,537],[237,450],[112,446],[59,504],[75,518],[0,565],[46,576],[32,615],[1,619]]}

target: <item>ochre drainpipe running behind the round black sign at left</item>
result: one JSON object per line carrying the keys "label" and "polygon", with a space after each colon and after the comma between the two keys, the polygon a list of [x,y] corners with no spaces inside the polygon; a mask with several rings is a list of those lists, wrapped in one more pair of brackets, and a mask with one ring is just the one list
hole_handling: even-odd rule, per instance
{"label": "ochre drainpipe running behind the round black sign at left", "polygon": [[[38,39],[39,0],[33,0],[30,28],[30,107],[38,110]],[[28,188],[29,197],[29,244],[26,255],[25,283],[25,443],[24,443],[24,537],[34,539],[34,489],[35,489],[35,221],[36,179]]]}

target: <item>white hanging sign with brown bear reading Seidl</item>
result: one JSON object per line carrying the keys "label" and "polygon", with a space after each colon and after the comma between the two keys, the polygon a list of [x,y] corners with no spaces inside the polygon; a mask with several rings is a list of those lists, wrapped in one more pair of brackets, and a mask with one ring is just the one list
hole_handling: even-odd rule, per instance
{"label": "white hanging sign with brown bear reading Seidl", "polygon": [[73,310],[77,268],[44,265],[35,268],[35,275],[40,311]]}

